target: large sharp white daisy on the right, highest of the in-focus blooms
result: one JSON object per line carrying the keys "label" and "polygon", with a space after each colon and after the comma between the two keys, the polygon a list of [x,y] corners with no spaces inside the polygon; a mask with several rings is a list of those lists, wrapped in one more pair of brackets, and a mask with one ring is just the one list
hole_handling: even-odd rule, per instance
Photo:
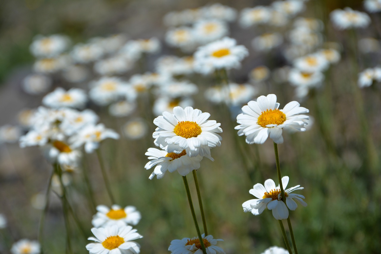
{"label": "large sharp white daisy on the right, highest of the in-focus blooms", "polygon": [[300,106],[297,101],[291,101],[283,109],[279,108],[277,96],[269,94],[259,96],[257,101],[249,101],[248,105],[242,107],[242,114],[237,116],[240,125],[235,127],[238,135],[246,136],[248,144],[263,144],[270,136],[275,143],[283,143],[282,128],[293,127],[300,131],[305,131],[307,125],[306,115],[309,110]]}

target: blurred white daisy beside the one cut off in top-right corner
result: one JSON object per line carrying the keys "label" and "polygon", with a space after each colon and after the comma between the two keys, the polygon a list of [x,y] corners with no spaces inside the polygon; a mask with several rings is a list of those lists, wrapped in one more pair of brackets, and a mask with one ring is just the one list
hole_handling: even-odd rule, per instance
{"label": "blurred white daisy beside the one cut off in top-right corner", "polygon": [[331,22],[338,29],[363,28],[370,24],[370,17],[367,13],[354,11],[349,7],[344,10],[336,9],[330,14]]}

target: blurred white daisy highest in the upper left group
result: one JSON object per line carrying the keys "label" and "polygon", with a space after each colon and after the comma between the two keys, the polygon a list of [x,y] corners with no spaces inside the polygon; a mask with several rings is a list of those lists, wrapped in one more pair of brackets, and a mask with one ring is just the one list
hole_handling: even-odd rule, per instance
{"label": "blurred white daisy highest in the upper left group", "polygon": [[53,34],[46,37],[37,35],[29,48],[36,57],[58,56],[66,50],[69,42],[69,38],[64,35]]}

